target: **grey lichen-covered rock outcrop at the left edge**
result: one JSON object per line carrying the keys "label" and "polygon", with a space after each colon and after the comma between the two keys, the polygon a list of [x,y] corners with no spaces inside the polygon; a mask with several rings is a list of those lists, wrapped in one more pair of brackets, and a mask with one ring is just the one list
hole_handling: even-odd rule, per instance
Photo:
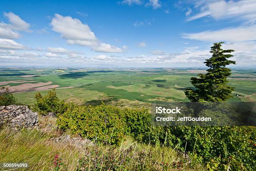
{"label": "grey lichen-covered rock outcrop at the left edge", "polygon": [[28,106],[1,106],[0,126],[6,124],[13,129],[38,128],[38,113],[32,112]]}

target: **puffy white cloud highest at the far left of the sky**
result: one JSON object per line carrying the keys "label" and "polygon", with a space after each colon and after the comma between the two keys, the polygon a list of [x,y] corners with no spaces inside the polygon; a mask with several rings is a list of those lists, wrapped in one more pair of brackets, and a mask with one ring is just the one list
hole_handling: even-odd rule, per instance
{"label": "puffy white cloud highest at the far left of the sky", "polygon": [[6,18],[8,18],[9,22],[11,23],[10,28],[13,30],[31,32],[31,30],[29,30],[30,24],[26,23],[18,15],[15,15],[12,12],[4,13],[4,15]]}

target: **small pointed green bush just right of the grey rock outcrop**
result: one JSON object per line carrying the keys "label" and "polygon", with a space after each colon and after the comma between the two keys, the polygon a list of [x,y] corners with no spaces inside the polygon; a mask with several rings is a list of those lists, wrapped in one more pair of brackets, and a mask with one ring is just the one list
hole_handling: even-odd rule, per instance
{"label": "small pointed green bush just right of the grey rock outcrop", "polygon": [[53,90],[49,90],[48,94],[42,96],[40,92],[35,95],[36,103],[35,108],[42,111],[41,113],[64,113],[69,107],[69,104],[64,103],[64,101],[60,101],[56,95],[55,88]]}

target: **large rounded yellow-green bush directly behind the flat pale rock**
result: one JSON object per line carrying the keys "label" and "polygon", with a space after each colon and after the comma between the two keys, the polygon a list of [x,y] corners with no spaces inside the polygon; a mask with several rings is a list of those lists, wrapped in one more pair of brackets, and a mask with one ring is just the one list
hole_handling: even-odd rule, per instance
{"label": "large rounded yellow-green bush directly behind the flat pale rock", "polygon": [[110,144],[120,143],[126,132],[125,118],[120,108],[106,106],[76,106],[58,115],[57,125],[72,134]]}

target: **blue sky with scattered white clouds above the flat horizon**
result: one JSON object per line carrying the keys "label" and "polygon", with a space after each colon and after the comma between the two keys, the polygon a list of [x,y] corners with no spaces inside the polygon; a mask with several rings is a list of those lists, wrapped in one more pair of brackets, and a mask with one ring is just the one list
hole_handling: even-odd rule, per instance
{"label": "blue sky with scattered white clouds above the flat horizon", "polygon": [[0,66],[200,67],[212,43],[256,64],[256,0],[2,0]]}

